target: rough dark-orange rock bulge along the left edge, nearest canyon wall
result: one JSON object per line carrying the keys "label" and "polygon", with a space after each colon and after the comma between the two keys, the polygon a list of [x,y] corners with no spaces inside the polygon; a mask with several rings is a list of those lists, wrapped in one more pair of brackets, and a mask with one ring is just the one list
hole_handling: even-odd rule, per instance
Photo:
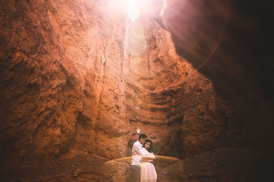
{"label": "rough dark-orange rock bulge along the left edge, nearest canyon wall", "polygon": [[49,2],[1,4],[2,157],[53,157],[74,138],[83,77],[50,21]]}

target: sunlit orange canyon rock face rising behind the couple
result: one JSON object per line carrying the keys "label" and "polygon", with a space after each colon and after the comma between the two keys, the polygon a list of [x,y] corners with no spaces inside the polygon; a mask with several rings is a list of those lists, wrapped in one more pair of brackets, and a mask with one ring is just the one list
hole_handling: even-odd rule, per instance
{"label": "sunlit orange canyon rock face rising behind the couple", "polygon": [[130,156],[137,128],[181,159],[244,143],[241,117],[156,21],[89,3],[2,3],[2,157]]}

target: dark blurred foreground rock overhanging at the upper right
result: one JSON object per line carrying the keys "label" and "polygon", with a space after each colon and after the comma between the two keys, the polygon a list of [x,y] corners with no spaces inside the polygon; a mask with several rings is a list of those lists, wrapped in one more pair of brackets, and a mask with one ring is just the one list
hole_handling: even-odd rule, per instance
{"label": "dark blurred foreground rock overhanging at the upper right", "polygon": [[270,1],[171,1],[164,15],[178,54],[212,79],[217,93],[244,116],[248,137],[270,154],[272,6]]}

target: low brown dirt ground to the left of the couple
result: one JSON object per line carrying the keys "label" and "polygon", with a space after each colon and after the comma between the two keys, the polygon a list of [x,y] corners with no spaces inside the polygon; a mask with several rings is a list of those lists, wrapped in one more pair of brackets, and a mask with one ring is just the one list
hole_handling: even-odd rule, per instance
{"label": "low brown dirt ground to the left of the couple", "polygon": [[[127,164],[107,162],[95,155],[76,155],[70,158],[47,160],[24,166],[0,168],[2,181],[128,181]],[[15,172],[16,171],[16,172]]]}

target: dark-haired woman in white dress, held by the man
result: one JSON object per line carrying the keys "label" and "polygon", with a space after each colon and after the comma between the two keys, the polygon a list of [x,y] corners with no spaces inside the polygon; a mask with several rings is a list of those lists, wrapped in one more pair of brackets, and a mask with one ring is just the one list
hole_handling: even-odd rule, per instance
{"label": "dark-haired woman in white dress, held by the man", "polygon": [[[152,141],[147,139],[142,147],[142,152],[145,154],[145,157],[147,160],[155,160],[155,156],[152,151],[153,151]],[[156,179],[157,179],[157,173],[154,165],[149,162],[142,162],[140,182],[156,182]]]}

